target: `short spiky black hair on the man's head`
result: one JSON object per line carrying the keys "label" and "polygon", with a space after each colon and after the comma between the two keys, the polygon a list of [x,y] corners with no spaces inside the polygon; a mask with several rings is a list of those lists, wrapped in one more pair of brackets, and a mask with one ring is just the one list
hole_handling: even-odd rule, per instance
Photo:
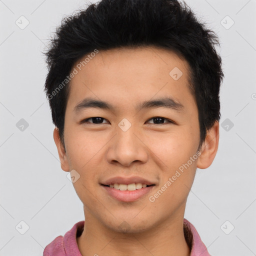
{"label": "short spiky black hair on the man's head", "polygon": [[62,144],[69,90],[66,77],[74,63],[95,49],[154,46],[175,52],[189,64],[201,148],[207,129],[220,119],[223,73],[215,45],[219,46],[217,35],[178,0],[101,0],[62,18],[44,52],[48,68],[44,90]]}

